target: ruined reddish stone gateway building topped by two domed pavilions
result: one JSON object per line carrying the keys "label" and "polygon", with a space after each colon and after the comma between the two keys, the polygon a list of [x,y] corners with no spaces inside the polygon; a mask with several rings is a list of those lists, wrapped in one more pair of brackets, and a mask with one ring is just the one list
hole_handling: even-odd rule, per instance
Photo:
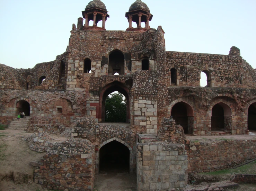
{"label": "ruined reddish stone gateway building topped by two domed pavilions", "polygon": [[[256,71],[240,50],[232,47],[228,55],[166,51],[165,32],[150,27],[153,15],[145,3],[136,0],[125,17],[125,31],[106,30],[106,6],[93,0],[56,60],[32,69],[0,64],[2,124],[19,128],[13,120],[22,110],[27,131],[60,134],[71,128],[75,138],[47,152],[35,181],[54,189],[91,190],[95,173],[112,154],[136,172],[137,190],[167,190],[184,187],[190,173],[255,158],[255,142],[246,147],[249,141],[237,141],[229,143],[228,161],[211,163],[199,154],[200,145],[184,136],[256,130]],[[206,87],[200,87],[201,72]],[[104,123],[106,98],[115,91],[127,100],[125,124]],[[216,149],[204,146],[205,156]],[[236,149],[242,154],[234,158]]]}

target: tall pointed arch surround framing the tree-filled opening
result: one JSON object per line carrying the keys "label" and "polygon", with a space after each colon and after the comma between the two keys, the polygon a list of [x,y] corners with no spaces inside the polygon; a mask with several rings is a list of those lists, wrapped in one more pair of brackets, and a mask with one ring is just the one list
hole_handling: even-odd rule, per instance
{"label": "tall pointed arch surround framing the tree-filled opening", "polygon": [[109,94],[118,91],[121,94],[124,95],[126,99],[126,123],[131,122],[131,112],[130,112],[130,103],[131,103],[131,96],[130,96],[130,90],[120,82],[113,82],[111,84],[108,84],[105,86],[100,93],[99,96],[99,122],[105,122],[105,104],[106,104],[106,98]]}

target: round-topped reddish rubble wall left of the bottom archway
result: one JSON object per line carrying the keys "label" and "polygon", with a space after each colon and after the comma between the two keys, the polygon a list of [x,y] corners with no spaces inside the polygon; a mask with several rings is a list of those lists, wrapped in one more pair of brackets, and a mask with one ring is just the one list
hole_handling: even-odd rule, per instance
{"label": "round-topped reddish rubble wall left of the bottom archway", "polygon": [[35,170],[35,182],[49,190],[92,190],[95,147],[88,140],[71,139],[54,145]]}

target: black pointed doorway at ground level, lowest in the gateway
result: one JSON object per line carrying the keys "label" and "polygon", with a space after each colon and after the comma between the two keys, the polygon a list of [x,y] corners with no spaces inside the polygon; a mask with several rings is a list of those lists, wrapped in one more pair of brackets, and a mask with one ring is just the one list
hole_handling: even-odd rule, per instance
{"label": "black pointed doorway at ground level, lowest in the gateway", "polygon": [[105,144],[99,150],[99,170],[105,172],[127,172],[130,169],[130,150],[118,141]]}

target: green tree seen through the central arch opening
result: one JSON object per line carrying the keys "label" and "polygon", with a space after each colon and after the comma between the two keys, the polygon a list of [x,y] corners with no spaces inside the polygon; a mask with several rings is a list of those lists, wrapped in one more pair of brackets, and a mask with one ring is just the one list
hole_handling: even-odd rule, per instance
{"label": "green tree seen through the central arch opening", "polygon": [[121,93],[108,96],[105,104],[106,122],[126,122],[126,99]]}

